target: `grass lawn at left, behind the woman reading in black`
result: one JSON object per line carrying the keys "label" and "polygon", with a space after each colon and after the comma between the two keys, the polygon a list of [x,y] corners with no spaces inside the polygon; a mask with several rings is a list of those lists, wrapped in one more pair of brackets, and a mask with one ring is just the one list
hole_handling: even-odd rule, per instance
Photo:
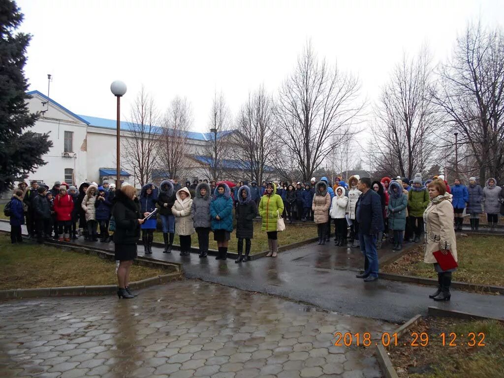
{"label": "grass lawn at left, behind the woman reading in black", "polygon": [[[133,266],[131,281],[166,274],[163,269]],[[0,234],[0,290],[117,283],[115,262],[43,244],[11,244]]]}

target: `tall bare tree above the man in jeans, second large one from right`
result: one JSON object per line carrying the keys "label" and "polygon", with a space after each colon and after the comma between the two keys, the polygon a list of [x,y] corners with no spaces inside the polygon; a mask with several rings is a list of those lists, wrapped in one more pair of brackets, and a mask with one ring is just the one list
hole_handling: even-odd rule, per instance
{"label": "tall bare tree above the man in jeans, second large one from right", "polygon": [[376,172],[412,177],[424,170],[435,148],[433,132],[440,115],[432,103],[431,57],[423,48],[415,58],[403,60],[383,88],[375,106],[375,125],[369,164]]}

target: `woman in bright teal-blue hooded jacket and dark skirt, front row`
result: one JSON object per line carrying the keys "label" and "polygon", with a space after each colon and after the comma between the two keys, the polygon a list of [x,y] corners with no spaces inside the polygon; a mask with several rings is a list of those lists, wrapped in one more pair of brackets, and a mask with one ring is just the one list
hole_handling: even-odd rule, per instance
{"label": "woman in bright teal-blue hooded jacket and dark skirt, front row", "polygon": [[229,186],[224,182],[218,183],[215,188],[215,200],[210,202],[210,215],[214,240],[219,247],[215,260],[226,260],[227,246],[233,231],[233,200]]}

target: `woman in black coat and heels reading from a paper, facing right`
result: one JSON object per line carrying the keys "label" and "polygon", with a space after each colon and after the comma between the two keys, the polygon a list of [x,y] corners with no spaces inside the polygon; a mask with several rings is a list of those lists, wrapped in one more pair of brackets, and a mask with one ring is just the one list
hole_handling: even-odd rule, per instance
{"label": "woman in black coat and heels reading from a paper, facing right", "polygon": [[[115,260],[119,261],[117,268],[117,281],[119,284],[117,296],[119,298],[133,298],[128,287],[130,269],[133,260],[137,257],[137,242],[140,238],[140,225],[144,223],[140,214],[140,202],[137,190],[132,185],[125,185],[115,192],[114,208],[115,219]],[[144,216],[149,215],[145,213]]]}

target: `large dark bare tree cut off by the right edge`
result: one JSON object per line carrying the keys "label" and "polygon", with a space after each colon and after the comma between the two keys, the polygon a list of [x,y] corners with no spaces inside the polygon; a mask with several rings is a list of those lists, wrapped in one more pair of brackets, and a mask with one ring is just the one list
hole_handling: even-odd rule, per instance
{"label": "large dark bare tree cut off by the right edge", "polygon": [[504,33],[468,25],[457,38],[454,55],[439,72],[433,101],[448,116],[450,134],[458,132],[479,178],[504,178]]}

